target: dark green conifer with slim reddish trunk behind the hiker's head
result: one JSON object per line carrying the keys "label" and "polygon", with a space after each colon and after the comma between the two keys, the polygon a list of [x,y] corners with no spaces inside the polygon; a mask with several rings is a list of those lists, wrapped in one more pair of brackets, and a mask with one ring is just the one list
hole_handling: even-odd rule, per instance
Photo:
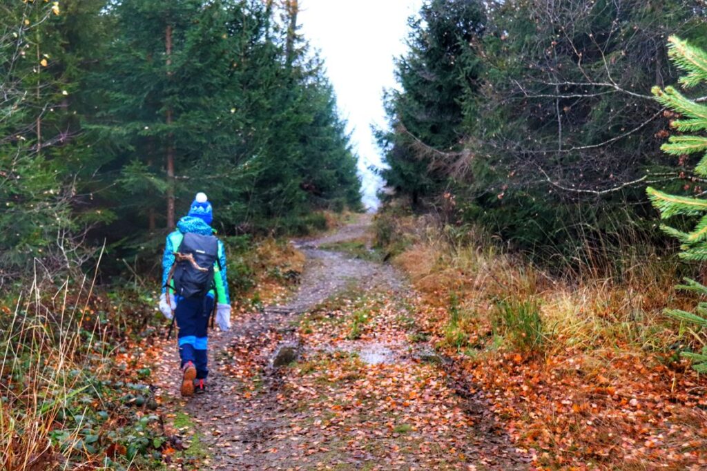
{"label": "dark green conifer with slim reddish trunk behind the hiker's head", "polygon": [[218,1],[124,0],[110,14],[115,38],[91,83],[104,99],[88,129],[112,156],[107,181],[120,175],[109,199],[122,203],[122,226],[146,221],[154,231],[164,220],[171,228],[178,178],[223,141],[218,120],[233,107],[220,99],[230,67],[225,12]]}

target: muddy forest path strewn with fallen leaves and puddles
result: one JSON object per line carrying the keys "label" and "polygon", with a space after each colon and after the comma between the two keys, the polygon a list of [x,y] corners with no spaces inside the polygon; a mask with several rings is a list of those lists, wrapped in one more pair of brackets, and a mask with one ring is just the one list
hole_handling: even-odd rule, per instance
{"label": "muddy forest path strewn with fallen leaves and puddles", "polygon": [[411,341],[414,292],[366,248],[370,222],[296,242],[307,256],[297,293],[211,333],[205,395],[178,397],[177,351],[165,344],[157,394],[185,449],[172,467],[525,469],[486,402],[457,394],[443,361]]}

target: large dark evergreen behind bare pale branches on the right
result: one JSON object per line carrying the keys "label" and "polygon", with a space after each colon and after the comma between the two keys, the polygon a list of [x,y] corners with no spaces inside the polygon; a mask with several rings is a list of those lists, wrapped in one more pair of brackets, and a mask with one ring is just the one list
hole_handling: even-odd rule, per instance
{"label": "large dark evergreen behind bare pale branches on the right", "polygon": [[487,85],[457,194],[466,217],[542,260],[564,255],[555,258],[562,264],[610,265],[607,247],[637,237],[662,244],[636,180],[648,170],[649,180],[668,180],[674,170],[655,137],[660,105],[646,90],[677,80],[662,38],[703,36],[699,3],[492,4]]}

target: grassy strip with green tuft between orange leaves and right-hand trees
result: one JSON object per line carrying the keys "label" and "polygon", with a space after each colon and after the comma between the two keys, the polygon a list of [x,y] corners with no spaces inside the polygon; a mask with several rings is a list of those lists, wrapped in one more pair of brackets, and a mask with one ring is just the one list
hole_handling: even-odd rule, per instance
{"label": "grassy strip with green tuft between orange leaves and right-hand trees", "polygon": [[[397,253],[395,264],[426,301],[447,310],[445,343],[450,347],[462,349],[479,335],[508,337],[509,347],[523,351],[618,343],[668,353],[676,344],[692,349],[707,344],[704,332],[662,315],[665,306],[689,306],[693,299],[673,286],[684,267],[650,252],[641,256],[629,249],[625,260],[614,260],[614,266],[623,267],[621,277],[601,277],[603,270],[591,267],[558,276],[468,226],[383,213],[375,228],[382,250]],[[405,240],[404,248],[395,240]]]}

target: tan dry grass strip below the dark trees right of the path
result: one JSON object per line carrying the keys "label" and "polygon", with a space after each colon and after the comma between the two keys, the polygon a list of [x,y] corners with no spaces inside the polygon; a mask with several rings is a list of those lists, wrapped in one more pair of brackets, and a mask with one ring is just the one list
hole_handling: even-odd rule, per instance
{"label": "tan dry grass strip below the dark trees right of the path", "polygon": [[667,347],[677,337],[669,329],[674,322],[662,310],[689,309],[694,304],[694,298],[674,289],[677,271],[665,262],[632,260],[620,283],[600,277],[560,279],[499,250],[488,237],[469,234],[464,243],[455,244],[435,226],[411,230],[416,223],[429,221],[407,218],[399,224],[397,230],[405,233],[396,238],[414,242],[393,262],[428,303],[445,306],[453,293],[465,306],[483,313],[493,300],[538,299],[547,335],[560,349],[567,344],[600,347],[617,339],[639,349],[646,344],[658,347],[641,330],[658,332],[662,347]]}

